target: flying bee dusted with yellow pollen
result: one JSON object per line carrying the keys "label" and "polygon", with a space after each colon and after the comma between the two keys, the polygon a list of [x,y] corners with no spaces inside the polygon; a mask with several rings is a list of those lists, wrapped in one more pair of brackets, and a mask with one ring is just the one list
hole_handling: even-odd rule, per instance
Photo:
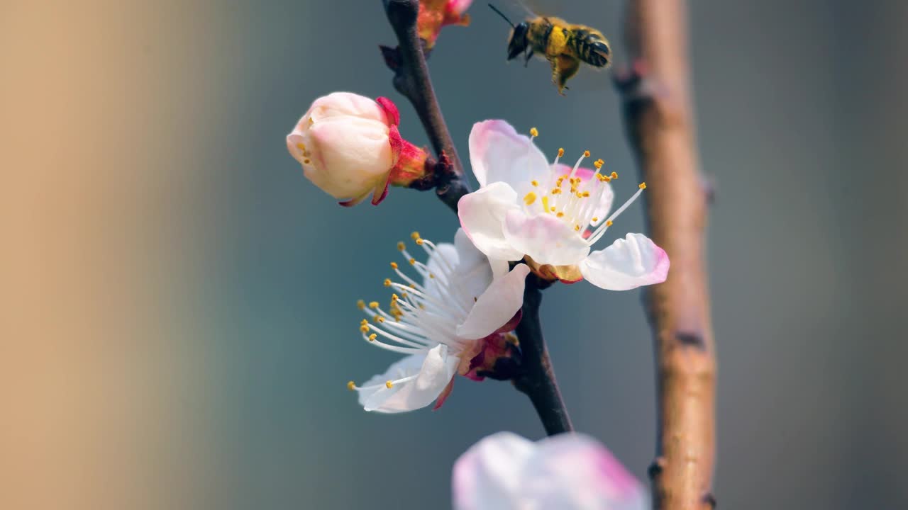
{"label": "flying bee dusted with yellow pollen", "polygon": [[552,65],[552,83],[564,95],[565,83],[577,74],[580,63],[605,68],[610,64],[611,50],[606,36],[587,25],[571,25],[552,16],[538,16],[514,25],[495,5],[493,11],[511,25],[508,37],[508,60],[524,54],[524,67],[534,53],[545,56]]}

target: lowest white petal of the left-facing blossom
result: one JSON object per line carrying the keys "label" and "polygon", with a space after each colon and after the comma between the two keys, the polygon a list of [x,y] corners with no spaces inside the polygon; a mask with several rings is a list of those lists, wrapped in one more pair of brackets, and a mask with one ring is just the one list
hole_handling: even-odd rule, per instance
{"label": "lowest white petal of the left-facing blossom", "polygon": [[[448,346],[439,344],[425,355],[411,355],[392,364],[388,371],[370,378],[363,387],[378,386],[368,391],[360,390],[360,404],[367,411],[403,413],[429,406],[444,390],[457,370],[459,359],[448,355]],[[419,377],[393,387],[385,387],[389,380],[405,378],[419,373]]]}

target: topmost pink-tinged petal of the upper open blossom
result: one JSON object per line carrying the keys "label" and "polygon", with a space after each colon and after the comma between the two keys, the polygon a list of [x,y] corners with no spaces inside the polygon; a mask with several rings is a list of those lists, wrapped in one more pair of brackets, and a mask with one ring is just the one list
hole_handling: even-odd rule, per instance
{"label": "topmost pink-tinged petal of the upper open blossom", "polygon": [[548,182],[551,175],[546,156],[536,144],[499,120],[473,124],[469,164],[479,186],[507,182],[521,194],[528,191],[530,181]]}

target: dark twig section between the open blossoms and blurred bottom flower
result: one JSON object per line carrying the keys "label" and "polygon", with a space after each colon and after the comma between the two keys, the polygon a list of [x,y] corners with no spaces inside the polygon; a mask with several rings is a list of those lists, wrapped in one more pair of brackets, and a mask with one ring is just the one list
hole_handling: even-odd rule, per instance
{"label": "dark twig section between the open blossoms and blurred bottom flower", "polygon": [[542,303],[540,284],[546,283],[548,282],[540,282],[534,275],[527,278],[523,293],[523,318],[517,327],[523,371],[514,378],[514,386],[527,394],[533,407],[536,407],[542,426],[546,428],[546,434],[554,436],[574,430],[574,427],[570,423],[564,400],[561,399],[539,322],[539,305]]}

